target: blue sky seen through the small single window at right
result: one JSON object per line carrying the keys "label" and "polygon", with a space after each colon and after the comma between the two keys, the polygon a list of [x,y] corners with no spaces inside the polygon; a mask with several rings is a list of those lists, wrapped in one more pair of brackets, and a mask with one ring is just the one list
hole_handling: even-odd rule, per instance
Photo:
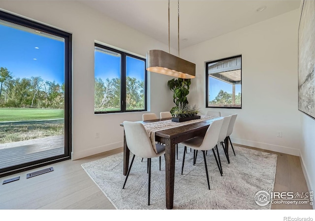
{"label": "blue sky seen through the small single window at right", "polygon": [[[216,98],[220,90],[226,91],[228,93],[232,93],[232,84],[225,83],[215,78],[208,77],[209,79],[209,101],[212,101]],[[241,93],[241,84],[235,85],[235,94]]]}

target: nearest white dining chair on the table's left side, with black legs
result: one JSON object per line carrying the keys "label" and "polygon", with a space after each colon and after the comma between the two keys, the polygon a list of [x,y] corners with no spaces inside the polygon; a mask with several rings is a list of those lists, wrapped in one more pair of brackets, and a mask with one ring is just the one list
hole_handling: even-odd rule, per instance
{"label": "nearest white dining chair on the table's left side, with black legs", "polygon": [[160,157],[165,153],[165,146],[158,143],[152,143],[146,129],[142,123],[124,121],[124,130],[126,135],[126,144],[133,157],[126,175],[123,189],[125,188],[131,166],[135,156],[148,158],[149,182],[148,182],[148,205],[150,205],[151,192],[151,158]]}

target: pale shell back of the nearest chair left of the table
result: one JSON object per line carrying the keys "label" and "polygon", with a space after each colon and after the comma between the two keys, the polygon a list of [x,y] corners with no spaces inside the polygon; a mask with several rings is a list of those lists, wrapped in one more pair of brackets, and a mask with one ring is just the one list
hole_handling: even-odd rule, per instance
{"label": "pale shell back of the nearest chair left of the table", "polygon": [[152,142],[142,123],[124,121],[124,130],[128,149],[142,158],[156,157]]}

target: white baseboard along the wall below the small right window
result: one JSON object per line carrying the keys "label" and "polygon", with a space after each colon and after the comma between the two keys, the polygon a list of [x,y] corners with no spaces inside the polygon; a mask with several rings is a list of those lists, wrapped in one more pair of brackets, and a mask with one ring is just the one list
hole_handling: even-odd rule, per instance
{"label": "white baseboard along the wall below the small right window", "polygon": [[299,149],[293,149],[290,147],[285,147],[285,146],[278,146],[274,144],[269,144],[269,143],[261,143],[261,142],[256,142],[252,140],[246,140],[246,139],[239,139],[239,138],[231,138],[231,141],[235,144],[241,144],[245,146],[251,146],[251,147],[256,147],[264,150],[272,150],[275,152],[280,152],[280,153],[285,153],[285,154],[290,154],[294,156],[300,156],[300,150]]}

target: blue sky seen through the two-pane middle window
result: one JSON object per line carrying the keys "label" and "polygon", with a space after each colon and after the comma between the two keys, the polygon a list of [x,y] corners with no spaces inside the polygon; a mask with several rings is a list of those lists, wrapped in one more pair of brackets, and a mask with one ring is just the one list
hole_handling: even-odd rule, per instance
{"label": "blue sky seen through the two-pane middle window", "polygon": [[[145,62],[134,57],[126,57],[126,75],[144,81]],[[107,78],[120,78],[121,56],[95,51],[95,78],[105,81]]]}

